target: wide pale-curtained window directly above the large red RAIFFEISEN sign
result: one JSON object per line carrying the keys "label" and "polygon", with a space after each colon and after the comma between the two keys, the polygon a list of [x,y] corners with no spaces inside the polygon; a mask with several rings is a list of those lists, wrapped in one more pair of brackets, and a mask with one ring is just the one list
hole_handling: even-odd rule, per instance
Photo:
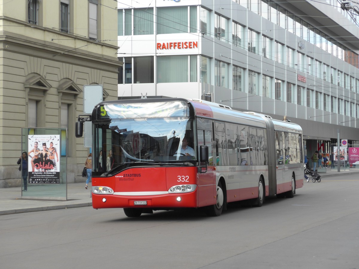
{"label": "wide pale-curtained window directly above the large red RAIFFEISEN sign", "polygon": [[157,34],[193,32],[197,32],[196,6],[157,8]]}

